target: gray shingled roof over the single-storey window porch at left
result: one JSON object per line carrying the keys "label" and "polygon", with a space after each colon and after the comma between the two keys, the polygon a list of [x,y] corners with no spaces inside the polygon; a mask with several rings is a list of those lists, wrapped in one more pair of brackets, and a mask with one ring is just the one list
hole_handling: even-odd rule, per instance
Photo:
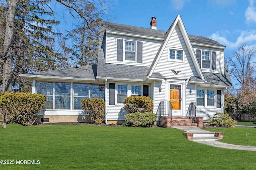
{"label": "gray shingled roof over the single-storey window porch at left", "polygon": [[28,74],[21,74],[21,76],[52,76],[63,77],[63,78],[84,78],[84,79],[95,79],[97,76],[97,65],[78,66],[73,68],[49,70],[42,72],[33,72]]}

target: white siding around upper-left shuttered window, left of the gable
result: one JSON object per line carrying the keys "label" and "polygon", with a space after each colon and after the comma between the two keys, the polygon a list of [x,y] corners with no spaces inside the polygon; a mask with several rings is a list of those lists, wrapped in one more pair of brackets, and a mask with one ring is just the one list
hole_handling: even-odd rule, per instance
{"label": "white siding around upper-left shuttered window, left of the gable", "polygon": [[[127,61],[117,61],[116,51],[117,51],[117,39],[128,39],[133,41],[142,41],[142,63],[127,62]],[[126,64],[126,65],[137,65],[137,66],[150,66],[154,60],[156,53],[161,45],[162,41],[155,41],[149,39],[140,39],[134,37],[124,37],[118,35],[107,34],[106,35],[106,63],[112,64]]]}

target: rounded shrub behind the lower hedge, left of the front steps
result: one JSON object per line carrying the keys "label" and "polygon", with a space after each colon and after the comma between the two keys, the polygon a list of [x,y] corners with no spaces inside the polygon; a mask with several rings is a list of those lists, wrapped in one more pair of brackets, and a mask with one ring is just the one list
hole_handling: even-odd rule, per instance
{"label": "rounded shrub behind the lower hedge, left of the front steps", "polygon": [[123,101],[124,109],[128,113],[153,112],[154,103],[148,96],[130,96]]}

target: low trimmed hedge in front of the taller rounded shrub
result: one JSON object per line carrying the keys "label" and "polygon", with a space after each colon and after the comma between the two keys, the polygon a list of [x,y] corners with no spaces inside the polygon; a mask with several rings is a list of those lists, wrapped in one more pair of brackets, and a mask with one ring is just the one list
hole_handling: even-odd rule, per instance
{"label": "low trimmed hedge in front of the taller rounded shrub", "polygon": [[125,116],[126,122],[124,126],[134,127],[150,127],[153,121],[156,121],[157,115],[152,112],[145,113],[129,113]]}

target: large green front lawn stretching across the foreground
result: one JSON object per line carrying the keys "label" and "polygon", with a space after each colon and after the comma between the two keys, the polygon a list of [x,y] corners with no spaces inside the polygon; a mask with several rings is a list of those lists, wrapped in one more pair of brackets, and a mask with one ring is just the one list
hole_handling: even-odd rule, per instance
{"label": "large green front lawn stretching across the foreground", "polygon": [[[239,129],[239,134],[246,132],[242,128],[234,129],[234,132]],[[40,164],[0,164],[0,169],[238,170],[256,168],[255,151],[202,145],[188,141],[182,133],[181,130],[172,128],[92,125],[24,127],[11,124],[7,125],[6,129],[0,129],[0,160],[40,160]],[[232,134],[226,133],[229,132],[224,132],[224,139],[232,137]],[[254,135],[250,130],[248,133],[247,137]]]}

